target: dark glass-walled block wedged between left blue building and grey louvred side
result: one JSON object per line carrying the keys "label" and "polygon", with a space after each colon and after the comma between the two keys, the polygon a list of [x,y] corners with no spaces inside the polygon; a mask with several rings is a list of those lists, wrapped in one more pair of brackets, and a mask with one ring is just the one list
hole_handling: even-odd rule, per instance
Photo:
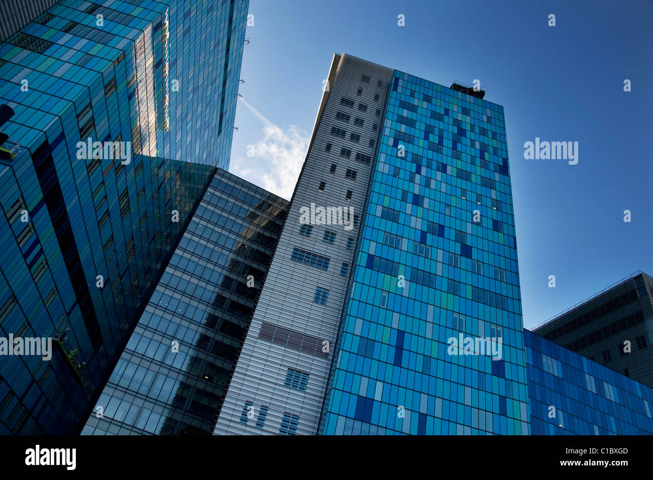
{"label": "dark glass-walled block wedged between left blue building and grey louvred side", "polygon": [[212,434],[288,203],[215,174],[82,434]]}

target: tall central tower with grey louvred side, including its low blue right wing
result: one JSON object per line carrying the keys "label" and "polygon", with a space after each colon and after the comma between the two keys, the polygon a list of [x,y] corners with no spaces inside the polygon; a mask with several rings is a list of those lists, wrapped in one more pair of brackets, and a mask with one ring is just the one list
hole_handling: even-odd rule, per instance
{"label": "tall central tower with grey louvred side, including its low blue right wing", "polygon": [[478,86],[334,56],[216,434],[653,433],[524,330],[506,141]]}

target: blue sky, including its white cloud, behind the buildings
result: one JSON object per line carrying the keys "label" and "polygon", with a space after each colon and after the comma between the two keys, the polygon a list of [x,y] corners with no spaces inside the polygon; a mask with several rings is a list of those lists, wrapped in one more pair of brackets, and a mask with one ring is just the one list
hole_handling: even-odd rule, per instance
{"label": "blue sky, including its white cloud, behind the buildings", "polygon": [[[505,110],[524,325],[653,274],[652,1],[251,0],[249,13],[231,172],[290,198],[334,53],[445,86],[478,78]],[[579,142],[578,164],[524,159],[535,137]]]}

